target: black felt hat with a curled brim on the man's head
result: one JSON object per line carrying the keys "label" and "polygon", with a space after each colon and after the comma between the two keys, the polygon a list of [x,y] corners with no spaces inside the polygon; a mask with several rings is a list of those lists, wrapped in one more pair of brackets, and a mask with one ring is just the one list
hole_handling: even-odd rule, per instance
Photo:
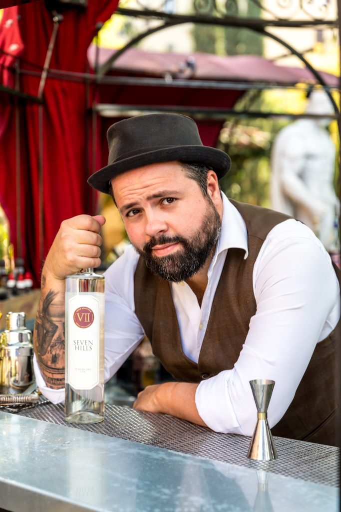
{"label": "black felt hat with a curled brim on the man's head", "polygon": [[124,119],[110,126],[108,165],[87,182],[109,194],[111,178],[127,170],[151,163],[202,163],[212,166],[218,178],[231,167],[229,155],[214,147],[203,146],[197,125],[181,114],[147,114]]}

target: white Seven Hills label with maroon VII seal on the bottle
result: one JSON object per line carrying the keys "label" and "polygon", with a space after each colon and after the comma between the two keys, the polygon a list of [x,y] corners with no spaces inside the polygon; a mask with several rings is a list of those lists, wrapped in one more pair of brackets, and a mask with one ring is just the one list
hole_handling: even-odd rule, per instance
{"label": "white Seven Hills label with maroon VII seal on the bottle", "polygon": [[74,389],[92,389],[99,383],[99,301],[75,295],[69,301],[68,381]]}

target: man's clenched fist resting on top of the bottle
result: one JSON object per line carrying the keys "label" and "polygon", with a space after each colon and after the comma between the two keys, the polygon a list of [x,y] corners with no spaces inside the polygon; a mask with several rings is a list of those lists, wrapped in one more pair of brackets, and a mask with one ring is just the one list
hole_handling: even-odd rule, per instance
{"label": "man's clenched fist resting on top of the bottle", "polygon": [[102,215],[78,215],[63,221],[44,264],[44,273],[50,279],[64,279],[80,268],[100,265],[99,234],[105,223]]}

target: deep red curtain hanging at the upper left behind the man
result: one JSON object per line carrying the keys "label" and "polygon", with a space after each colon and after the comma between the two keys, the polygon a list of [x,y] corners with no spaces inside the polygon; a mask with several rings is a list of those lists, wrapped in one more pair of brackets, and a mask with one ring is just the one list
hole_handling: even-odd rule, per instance
{"label": "deep red curtain hanging at the upper left behind the man", "polygon": [[[117,5],[118,0],[97,0],[88,2],[86,9],[62,8],[63,21],[59,25],[50,68],[86,72],[86,51],[96,34],[95,26],[105,22]],[[20,75],[20,91],[26,94],[37,96],[53,26],[52,14],[42,1],[4,11],[0,50],[12,55],[13,49],[20,52],[21,70],[39,71],[39,76]],[[13,87],[14,77],[8,70],[11,59],[13,57],[0,54],[2,84]],[[89,100],[84,83],[52,78],[47,79],[42,106],[13,98],[4,94],[0,97],[0,203],[9,218],[16,255],[25,259],[37,284],[41,257],[49,250],[60,222],[82,213],[95,213],[94,196],[86,183],[91,174]],[[18,135],[20,151],[16,154]],[[39,166],[41,148],[42,165]],[[42,219],[39,218],[41,186]],[[39,250],[41,242],[42,251]]]}

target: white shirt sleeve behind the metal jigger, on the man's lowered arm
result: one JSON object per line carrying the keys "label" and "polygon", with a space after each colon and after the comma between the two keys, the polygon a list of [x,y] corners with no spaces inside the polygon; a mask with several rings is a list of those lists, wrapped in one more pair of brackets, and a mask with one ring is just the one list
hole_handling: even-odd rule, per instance
{"label": "white shirt sleeve behind the metal jigger, on the man's lowered arm", "polygon": [[288,409],[316,343],[335,327],[339,286],[329,255],[303,224],[276,226],[254,268],[256,314],[232,370],[202,381],[196,407],[216,432],[251,436],[256,406],[249,380],[272,379],[270,427]]}

